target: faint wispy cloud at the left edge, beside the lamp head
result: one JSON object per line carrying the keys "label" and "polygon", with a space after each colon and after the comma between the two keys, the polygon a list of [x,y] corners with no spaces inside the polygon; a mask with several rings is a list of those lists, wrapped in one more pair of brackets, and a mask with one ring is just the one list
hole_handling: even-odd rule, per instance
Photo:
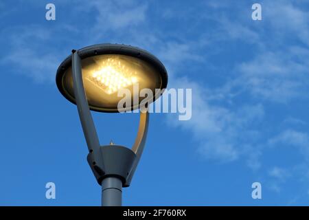
{"label": "faint wispy cloud at the left edge, beside the lamp head", "polygon": [[10,65],[10,71],[29,76],[38,83],[54,82],[60,54],[55,54],[46,43],[52,39],[52,30],[29,25],[7,31],[10,32],[10,50],[1,58],[1,64]]}

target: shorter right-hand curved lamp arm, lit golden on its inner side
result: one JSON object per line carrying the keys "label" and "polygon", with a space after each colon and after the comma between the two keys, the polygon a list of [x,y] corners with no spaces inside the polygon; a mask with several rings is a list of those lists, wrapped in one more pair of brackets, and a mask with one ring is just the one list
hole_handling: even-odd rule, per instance
{"label": "shorter right-hand curved lamp arm, lit golden on its inner side", "polygon": [[141,110],[141,114],[139,116],[139,131],[137,133],[137,137],[135,139],[135,143],[133,144],[132,151],[136,154],[135,162],[133,164],[132,170],[130,171],[126,182],[130,185],[130,182],[133,178],[137,165],[139,164],[139,159],[141,159],[141,154],[144,151],[144,147],[146,144],[146,137],[148,131],[148,122],[149,122],[149,113],[148,109]]}

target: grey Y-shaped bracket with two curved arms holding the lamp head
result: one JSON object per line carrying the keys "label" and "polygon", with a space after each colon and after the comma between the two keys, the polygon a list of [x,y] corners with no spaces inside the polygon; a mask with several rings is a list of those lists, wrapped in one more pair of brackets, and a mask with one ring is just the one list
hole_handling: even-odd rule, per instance
{"label": "grey Y-shaped bracket with two curved arms holding the lamp head", "polygon": [[132,150],[118,145],[100,146],[82,82],[81,59],[78,51],[72,50],[72,53],[73,90],[89,149],[87,156],[89,166],[98,184],[101,185],[106,177],[117,177],[122,180],[123,187],[128,187],[144,151],[149,122],[148,109],[140,110],[139,130]]}

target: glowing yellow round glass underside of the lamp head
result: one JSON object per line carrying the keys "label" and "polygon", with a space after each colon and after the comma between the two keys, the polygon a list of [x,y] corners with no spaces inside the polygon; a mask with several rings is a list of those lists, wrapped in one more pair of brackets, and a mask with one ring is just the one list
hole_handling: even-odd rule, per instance
{"label": "glowing yellow round glass underside of the lamp head", "polygon": [[[163,87],[161,73],[155,67],[134,56],[120,54],[102,54],[89,56],[82,59],[82,80],[84,91],[91,110],[117,111],[117,104],[123,96],[118,96],[118,91],[128,89],[132,100],[133,96],[139,97],[139,91],[144,88],[151,89],[155,96],[155,89]],[[138,89],[133,90],[133,85]],[[73,78],[71,67],[68,67],[62,76],[62,88],[65,96],[73,101]],[[146,100],[153,100],[146,97]],[[145,97],[139,97],[139,102]]]}

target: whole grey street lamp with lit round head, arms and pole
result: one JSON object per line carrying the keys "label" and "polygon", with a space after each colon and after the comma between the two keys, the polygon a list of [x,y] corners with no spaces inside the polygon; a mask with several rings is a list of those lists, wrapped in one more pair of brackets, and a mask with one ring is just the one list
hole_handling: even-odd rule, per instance
{"label": "whole grey street lamp with lit round head, arms and pole", "polygon": [[[121,206],[122,187],[130,186],[144,150],[149,113],[141,109],[137,137],[130,149],[113,143],[100,146],[90,110],[119,112],[120,89],[128,89],[132,100],[141,89],[151,89],[153,96],[143,102],[155,101],[161,95],[159,89],[168,85],[165,67],[155,56],[137,47],[92,45],[72,50],[58,67],[56,84],[60,93],[78,107],[89,149],[87,161],[102,186],[102,206]],[[138,91],[134,89],[136,84]],[[138,98],[137,102],[125,104],[122,111],[139,109],[141,101]]]}

